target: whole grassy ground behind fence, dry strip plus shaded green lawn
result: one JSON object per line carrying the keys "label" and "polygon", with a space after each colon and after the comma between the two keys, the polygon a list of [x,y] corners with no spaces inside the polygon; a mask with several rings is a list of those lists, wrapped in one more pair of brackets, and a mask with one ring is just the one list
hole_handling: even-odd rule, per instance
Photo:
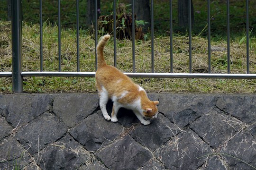
{"label": "whole grassy ground behind fence, dry strip plus shaded green lawn", "polygon": [[[119,0],[129,4],[130,0]],[[155,71],[170,71],[169,0],[154,0]],[[39,71],[39,1],[23,0],[23,70]],[[250,72],[256,73],[256,1],[249,1]],[[94,71],[94,39],[85,26],[86,0],[80,0],[80,68]],[[207,1],[193,0],[195,24],[192,27],[192,70],[205,73],[208,70],[207,53]],[[101,1],[101,15],[112,14],[112,1]],[[226,1],[210,3],[211,45],[226,48]],[[127,7],[131,12],[131,7]],[[173,0],[174,72],[188,73],[187,28],[178,26],[177,1]],[[246,72],[245,0],[230,0],[231,73]],[[7,1],[0,6],[0,71],[11,71],[11,25],[6,22]],[[43,69],[58,71],[57,0],[43,1]],[[76,8],[73,0],[61,0],[62,71],[76,71]],[[150,37],[150,32],[145,33]],[[132,44],[128,40],[117,41],[118,68],[132,71]],[[151,42],[136,41],[136,71],[151,72]],[[113,40],[105,49],[107,62],[113,65]],[[227,72],[227,51],[211,53],[211,72]],[[23,77],[25,92],[95,92],[91,77]],[[240,79],[170,79],[133,78],[149,92],[193,93],[255,93],[256,80]],[[11,93],[11,78],[0,77],[0,93]]]}

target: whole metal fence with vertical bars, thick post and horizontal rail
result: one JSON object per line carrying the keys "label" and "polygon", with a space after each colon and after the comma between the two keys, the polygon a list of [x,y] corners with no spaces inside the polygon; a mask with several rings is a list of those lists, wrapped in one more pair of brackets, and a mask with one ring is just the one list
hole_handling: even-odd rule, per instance
{"label": "whole metal fence with vertical bars, thick post and horizontal rail", "polygon": [[[21,24],[21,0],[11,0],[11,25],[12,25],[12,72],[0,72],[0,76],[12,76],[13,92],[22,93],[23,91],[23,76],[95,76],[95,72],[81,72],[79,67],[79,0],[76,0],[76,33],[77,33],[77,71],[63,72],[61,70],[61,20],[60,20],[60,0],[58,0],[58,65],[59,69],[56,72],[49,72],[43,70],[43,40],[42,40],[42,0],[39,0],[40,9],[40,71],[24,72],[22,71],[22,24]],[[191,0],[189,0],[189,73],[173,73],[173,22],[172,22],[172,0],[170,4],[170,72],[169,73],[155,73],[154,70],[154,3],[151,0],[151,73],[138,73],[135,71],[135,21],[132,20],[132,72],[125,73],[130,77],[162,77],[162,78],[242,78],[254,79],[256,74],[250,74],[249,68],[249,0],[246,0],[246,46],[247,46],[247,71],[245,74],[231,74],[230,73],[230,31],[229,31],[229,0],[227,0],[227,56],[228,69],[226,74],[211,73],[211,44],[210,44],[210,0],[208,0],[208,73],[192,73],[192,16],[191,16]],[[113,0],[116,4],[116,0]],[[132,18],[134,18],[134,0],[132,0]],[[97,0],[95,0],[95,16],[97,16]],[[116,7],[113,8],[114,18],[114,66],[117,65],[116,55]],[[95,17],[95,47],[98,40],[97,32],[97,17]],[[96,49],[96,48],[95,48]],[[95,51],[95,60],[97,55]],[[96,62],[97,63],[97,62]],[[97,65],[95,66],[97,69]]]}

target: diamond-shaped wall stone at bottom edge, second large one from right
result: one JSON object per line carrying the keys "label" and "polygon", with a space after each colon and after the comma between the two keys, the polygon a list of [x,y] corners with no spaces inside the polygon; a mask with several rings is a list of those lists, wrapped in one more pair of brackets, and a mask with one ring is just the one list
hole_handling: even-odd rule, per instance
{"label": "diamond-shaped wall stone at bottom edge, second large one from right", "polygon": [[196,170],[212,152],[208,144],[193,131],[188,130],[172,138],[154,153],[167,169]]}

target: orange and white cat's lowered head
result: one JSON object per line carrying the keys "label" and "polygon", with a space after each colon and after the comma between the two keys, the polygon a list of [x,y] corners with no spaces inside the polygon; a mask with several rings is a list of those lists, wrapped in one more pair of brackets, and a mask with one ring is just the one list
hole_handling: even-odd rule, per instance
{"label": "orange and white cat's lowered head", "polygon": [[158,103],[159,103],[158,101],[150,101],[149,103],[147,103],[143,108],[143,115],[146,118],[150,118],[150,119],[156,118],[158,113],[158,109],[157,109]]}

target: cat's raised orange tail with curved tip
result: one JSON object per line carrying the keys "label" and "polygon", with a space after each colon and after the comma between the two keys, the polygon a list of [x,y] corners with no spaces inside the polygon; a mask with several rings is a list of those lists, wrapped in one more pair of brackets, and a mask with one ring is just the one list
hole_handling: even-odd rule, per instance
{"label": "cat's raised orange tail with curved tip", "polygon": [[106,61],[103,56],[103,49],[104,49],[105,45],[107,44],[107,42],[109,41],[109,39],[110,39],[109,34],[104,35],[102,37],[101,41],[98,42],[98,45],[96,47],[98,68],[101,68],[102,66],[106,65]]}

